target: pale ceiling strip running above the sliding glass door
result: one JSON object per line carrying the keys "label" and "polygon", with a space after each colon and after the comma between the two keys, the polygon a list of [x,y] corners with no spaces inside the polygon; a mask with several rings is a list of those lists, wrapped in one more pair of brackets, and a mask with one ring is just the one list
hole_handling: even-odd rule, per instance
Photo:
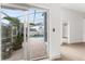
{"label": "pale ceiling strip running above the sliding glass door", "polygon": [[45,12],[45,9],[41,9],[38,7],[33,7],[27,3],[2,3],[1,8],[6,8],[6,9],[13,9],[13,10],[23,10],[23,11],[28,11],[30,9],[37,10],[39,12]]}

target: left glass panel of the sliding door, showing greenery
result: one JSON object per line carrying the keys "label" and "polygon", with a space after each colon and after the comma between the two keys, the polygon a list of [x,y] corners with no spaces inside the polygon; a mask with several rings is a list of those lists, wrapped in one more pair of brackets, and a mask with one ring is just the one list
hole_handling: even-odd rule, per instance
{"label": "left glass panel of the sliding door, showing greenery", "polygon": [[24,60],[24,11],[1,9],[1,60]]}

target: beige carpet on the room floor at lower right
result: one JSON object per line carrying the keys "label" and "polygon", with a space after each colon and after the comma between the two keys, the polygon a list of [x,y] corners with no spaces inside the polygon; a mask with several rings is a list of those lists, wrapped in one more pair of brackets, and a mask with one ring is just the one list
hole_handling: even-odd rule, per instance
{"label": "beige carpet on the room floor at lower right", "polygon": [[[61,46],[60,61],[85,61],[85,43],[72,43]],[[59,61],[58,60],[58,61]]]}

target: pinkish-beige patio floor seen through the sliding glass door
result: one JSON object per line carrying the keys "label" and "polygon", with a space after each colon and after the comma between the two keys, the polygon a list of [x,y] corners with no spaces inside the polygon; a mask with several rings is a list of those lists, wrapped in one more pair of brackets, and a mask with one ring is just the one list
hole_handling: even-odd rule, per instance
{"label": "pinkish-beige patio floor seen through the sliding glass door", "polygon": [[[37,59],[41,56],[46,56],[46,43],[44,42],[43,38],[30,38],[30,50],[31,50],[31,59]],[[29,54],[29,53],[28,53]],[[19,49],[13,52],[10,59],[6,61],[20,61],[24,60],[24,49]]]}

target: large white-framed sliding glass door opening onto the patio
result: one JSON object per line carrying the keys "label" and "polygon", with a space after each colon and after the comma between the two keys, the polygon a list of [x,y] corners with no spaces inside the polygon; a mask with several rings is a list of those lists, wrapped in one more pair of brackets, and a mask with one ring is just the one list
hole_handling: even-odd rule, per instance
{"label": "large white-framed sliding glass door opening onto the patio", "polygon": [[43,9],[3,4],[0,9],[1,60],[47,57],[47,12]]}

